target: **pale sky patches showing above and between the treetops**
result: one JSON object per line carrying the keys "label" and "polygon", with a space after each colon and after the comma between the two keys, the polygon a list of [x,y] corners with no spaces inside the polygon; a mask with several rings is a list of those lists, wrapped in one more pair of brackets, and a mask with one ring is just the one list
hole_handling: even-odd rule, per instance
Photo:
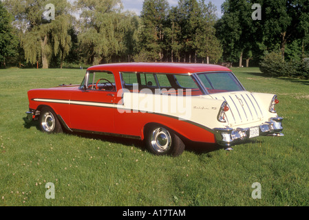
{"label": "pale sky patches showing above and between the treetops", "polygon": [[[169,2],[169,6],[177,6],[178,0],[167,0]],[[122,5],[125,10],[130,10],[136,12],[136,14],[140,15],[140,12],[142,11],[142,3],[144,0],[122,0]],[[206,3],[209,2],[209,0],[205,1]],[[224,2],[224,0],[213,0],[211,1],[216,7],[217,7],[217,17],[221,17],[221,5]]]}

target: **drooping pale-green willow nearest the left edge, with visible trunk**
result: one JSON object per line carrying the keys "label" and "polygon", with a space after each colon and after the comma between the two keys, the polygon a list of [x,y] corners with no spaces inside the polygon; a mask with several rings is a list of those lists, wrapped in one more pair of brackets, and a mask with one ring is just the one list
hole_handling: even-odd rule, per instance
{"label": "drooping pale-green willow nearest the left edge, with visible trunk", "polygon": [[[19,28],[25,59],[31,64],[42,62],[49,67],[54,54],[61,60],[70,50],[70,3],[66,0],[7,0],[4,4],[14,14],[14,25]],[[52,4],[54,10],[47,4]]]}

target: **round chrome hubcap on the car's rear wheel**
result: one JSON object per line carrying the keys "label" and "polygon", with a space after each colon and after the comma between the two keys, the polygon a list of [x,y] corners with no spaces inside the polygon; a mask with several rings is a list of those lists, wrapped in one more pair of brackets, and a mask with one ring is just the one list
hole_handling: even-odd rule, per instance
{"label": "round chrome hubcap on the car's rear wheel", "polygon": [[171,135],[167,129],[158,128],[151,134],[151,146],[159,153],[164,153],[171,148]]}

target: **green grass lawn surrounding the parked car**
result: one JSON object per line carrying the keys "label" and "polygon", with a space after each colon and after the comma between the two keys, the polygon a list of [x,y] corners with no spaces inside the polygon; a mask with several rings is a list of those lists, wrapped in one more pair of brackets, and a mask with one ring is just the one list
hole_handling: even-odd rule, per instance
{"label": "green grass lawn surrounding the parked car", "polygon": [[[25,124],[27,91],[80,84],[85,70],[1,69],[0,206],[308,206],[309,80],[233,70],[248,91],[278,95],[285,136],[173,158],[132,140],[41,133]],[[251,197],[255,182],[262,199]]]}

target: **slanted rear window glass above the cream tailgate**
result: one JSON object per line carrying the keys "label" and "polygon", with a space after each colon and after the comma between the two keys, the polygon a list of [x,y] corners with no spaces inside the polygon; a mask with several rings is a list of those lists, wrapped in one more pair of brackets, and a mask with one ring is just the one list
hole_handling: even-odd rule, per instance
{"label": "slanted rear window glass above the cream tailgate", "polygon": [[227,91],[244,91],[237,78],[231,72],[215,72],[198,74],[209,94]]}

